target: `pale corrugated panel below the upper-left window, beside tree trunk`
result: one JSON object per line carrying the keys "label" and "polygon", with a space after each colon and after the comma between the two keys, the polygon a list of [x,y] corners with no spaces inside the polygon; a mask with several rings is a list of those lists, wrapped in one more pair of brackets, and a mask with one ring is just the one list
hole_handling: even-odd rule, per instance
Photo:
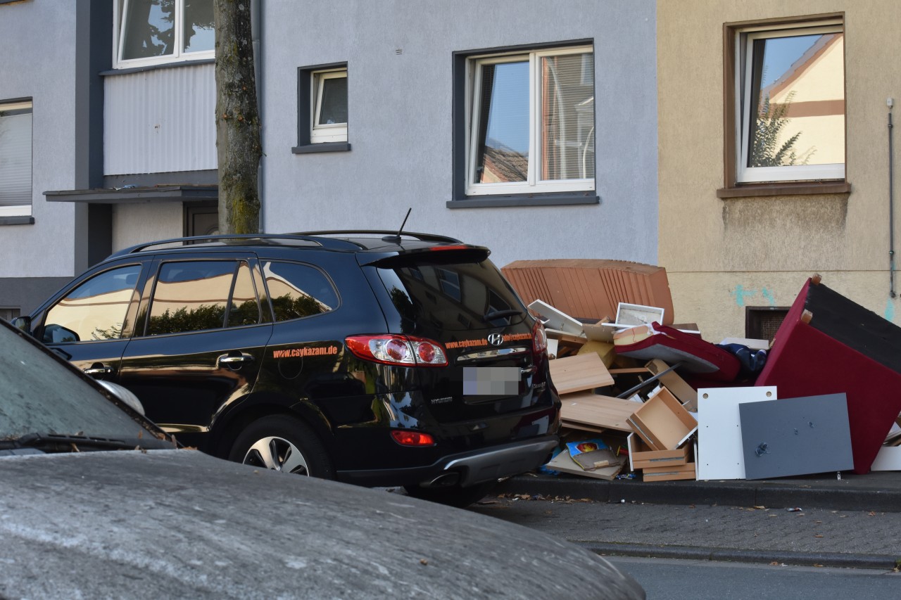
{"label": "pale corrugated panel below the upper-left window, beside tree trunk", "polygon": [[104,174],[216,168],[214,65],[105,78]]}

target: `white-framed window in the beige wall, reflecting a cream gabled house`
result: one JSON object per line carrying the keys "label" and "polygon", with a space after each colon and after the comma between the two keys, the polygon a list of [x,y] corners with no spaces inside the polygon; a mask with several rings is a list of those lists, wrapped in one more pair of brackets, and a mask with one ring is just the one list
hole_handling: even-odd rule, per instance
{"label": "white-framed window in the beige wall, reflecting a cream gabled house", "polygon": [[745,28],[735,44],[736,182],[844,179],[842,22]]}

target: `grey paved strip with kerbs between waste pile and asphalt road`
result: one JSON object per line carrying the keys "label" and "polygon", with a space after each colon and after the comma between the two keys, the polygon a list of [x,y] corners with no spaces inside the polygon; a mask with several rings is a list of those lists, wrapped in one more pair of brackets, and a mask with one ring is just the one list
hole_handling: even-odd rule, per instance
{"label": "grey paved strip with kerbs between waste pile and asphalt road", "polygon": [[894,471],[648,483],[526,474],[471,509],[599,554],[886,570],[901,559]]}

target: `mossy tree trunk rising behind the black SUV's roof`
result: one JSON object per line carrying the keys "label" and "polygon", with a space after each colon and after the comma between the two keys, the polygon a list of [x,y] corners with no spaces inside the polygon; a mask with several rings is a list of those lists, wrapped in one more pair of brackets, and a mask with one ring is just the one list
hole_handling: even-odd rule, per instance
{"label": "mossy tree trunk rising behind the black SUV's roof", "polygon": [[250,0],[214,0],[219,232],[259,233],[262,148]]}

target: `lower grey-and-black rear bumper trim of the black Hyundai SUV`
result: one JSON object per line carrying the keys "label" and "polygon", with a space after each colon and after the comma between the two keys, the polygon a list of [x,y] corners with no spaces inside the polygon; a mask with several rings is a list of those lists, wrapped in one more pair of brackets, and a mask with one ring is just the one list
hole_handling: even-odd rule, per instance
{"label": "lower grey-and-black rear bumper trim of the black Hyundai SUV", "polygon": [[449,481],[474,486],[541,467],[551,459],[559,441],[556,435],[544,435],[451,454],[425,467],[339,471],[337,477],[363,486],[442,486]]}

